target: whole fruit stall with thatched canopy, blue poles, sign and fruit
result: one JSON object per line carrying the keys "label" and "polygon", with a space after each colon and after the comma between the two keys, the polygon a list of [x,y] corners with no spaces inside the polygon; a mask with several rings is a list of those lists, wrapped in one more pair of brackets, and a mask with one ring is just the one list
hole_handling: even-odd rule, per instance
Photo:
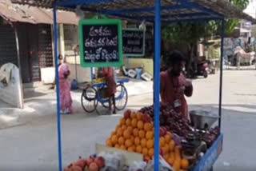
{"label": "whole fruit stall with thatched canopy, blue poles, sign and fruit", "polygon": [[[170,106],[162,104],[159,99],[161,24],[212,20],[221,22],[222,56],[224,19],[250,20],[250,17],[230,2],[214,0],[43,0],[40,2],[18,0],[17,2],[53,8],[59,171],[62,171],[62,130],[58,88],[56,16],[58,8],[77,10],[78,14],[81,14],[81,11],[104,14],[96,15],[91,19],[82,19],[79,22],[80,56],[83,67],[122,66],[122,21],[106,16],[154,25],[154,105],[143,107],[138,111],[127,109],[116,124],[116,128],[107,137],[106,145],[96,145],[94,155],[79,157],[77,161],[65,165],[64,170],[213,170],[214,161],[222,152],[223,141],[222,57],[218,116],[210,116],[204,111],[192,111],[190,113],[192,124],[190,124]],[[134,48],[134,50],[141,49],[143,48]],[[218,124],[214,125],[217,120]]]}

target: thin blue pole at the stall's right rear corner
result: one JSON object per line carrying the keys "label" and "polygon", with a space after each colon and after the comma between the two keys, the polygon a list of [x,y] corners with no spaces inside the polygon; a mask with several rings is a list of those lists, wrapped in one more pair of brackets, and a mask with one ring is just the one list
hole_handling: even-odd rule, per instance
{"label": "thin blue pole at the stall's right rear corner", "polygon": [[220,63],[220,77],[219,77],[219,102],[218,102],[218,126],[222,126],[222,77],[223,77],[223,45],[224,45],[224,19],[222,19],[222,42],[221,42],[221,63]]}

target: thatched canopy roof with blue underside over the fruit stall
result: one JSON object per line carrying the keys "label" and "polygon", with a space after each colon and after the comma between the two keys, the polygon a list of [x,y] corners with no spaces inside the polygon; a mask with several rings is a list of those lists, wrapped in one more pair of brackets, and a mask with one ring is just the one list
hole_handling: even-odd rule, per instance
{"label": "thatched canopy roof with blue underside over the fruit stall", "polygon": [[[154,0],[12,0],[15,3],[51,8],[58,6],[109,14],[121,18],[154,22]],[[193,21],[198,19],[238,18],[256,22],[227,0],[162,0],[162,22]],[[74,5],[75,4],[75,5]]]}

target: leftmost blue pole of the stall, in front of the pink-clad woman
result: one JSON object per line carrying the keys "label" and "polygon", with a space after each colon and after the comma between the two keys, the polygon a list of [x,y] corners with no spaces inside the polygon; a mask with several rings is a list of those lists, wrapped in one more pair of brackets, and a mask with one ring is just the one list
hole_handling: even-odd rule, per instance
{"label": "leftmost blue pole of the stall, in front of the pink-clad woman", "polygon": [[58,30],[57,30],[57,18],[56,18],[55,5],[53,10],[54,10],[54,60],[55,60],[56,97],[57,97],[58,170],[62,171],[62,130],[61,130],[59,84],[58,84]]}

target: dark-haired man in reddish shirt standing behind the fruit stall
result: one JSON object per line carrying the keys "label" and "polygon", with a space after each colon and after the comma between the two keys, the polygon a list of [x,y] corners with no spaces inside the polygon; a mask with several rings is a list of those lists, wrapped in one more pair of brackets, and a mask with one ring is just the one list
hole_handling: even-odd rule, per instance
{"label": "dark-haired man in reddish shirt standing behind the fruit stall", "polygon": [[190,120],[185,96],[192,96],[193,85],[182,74],[185,58],[180,52],[174,51],[166,58],[166,66],[167,70],[160,74],[161,100],[172,105],[177,113],[182,113],[185,119]]}

